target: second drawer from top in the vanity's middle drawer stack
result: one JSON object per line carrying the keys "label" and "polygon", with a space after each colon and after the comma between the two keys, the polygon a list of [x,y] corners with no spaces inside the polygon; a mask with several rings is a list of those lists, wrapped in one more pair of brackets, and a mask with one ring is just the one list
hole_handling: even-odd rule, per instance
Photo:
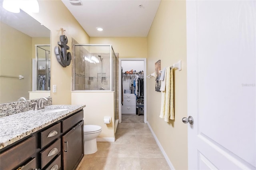
{"label": "second drawer from top in the vanity's middle drawer stack", "polygon": [[50,145],[48,148],[40,152],[41,155],[41,169],[50,162],[59,152],[61,149],[61,141],[58,139],[56,142],[54,142],[52,145]]}

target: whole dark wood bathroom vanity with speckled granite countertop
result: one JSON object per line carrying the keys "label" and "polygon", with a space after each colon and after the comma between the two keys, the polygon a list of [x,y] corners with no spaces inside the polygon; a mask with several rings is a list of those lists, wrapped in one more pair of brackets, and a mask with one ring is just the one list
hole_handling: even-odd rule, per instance
{"label": "whole dark wood bathroom vanity with speckled granite countertop", "polygon": [[51,105],[0,118],[0,169],[76,169],[84,156],[84,107]]}

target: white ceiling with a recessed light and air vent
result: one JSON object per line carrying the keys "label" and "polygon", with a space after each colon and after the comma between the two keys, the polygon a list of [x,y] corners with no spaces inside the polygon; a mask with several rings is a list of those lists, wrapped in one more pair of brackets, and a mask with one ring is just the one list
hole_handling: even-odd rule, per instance
{"label": "white ceiling with a recessed light and air vent", "polygon": [[[82,6],[70,4],[78,1],[82,2]],[[62,2],[90,37],[146,37],[160,4],[160,0]],[[97,31],[98,27],[103,28],[103,31]]]}

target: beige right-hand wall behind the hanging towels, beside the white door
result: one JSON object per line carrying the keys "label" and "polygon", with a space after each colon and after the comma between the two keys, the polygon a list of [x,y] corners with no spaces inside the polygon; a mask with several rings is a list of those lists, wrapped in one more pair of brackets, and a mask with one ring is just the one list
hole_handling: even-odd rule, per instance
{"label": "beige right-hand wall behind the hanging towels, beside the white door", "polygon": [[154,63],[161,67],[182,61],[182,70],[174,71],[175,121],[166,123],[159,117],[161,93],[155,91],[154,79],[147,81],[147,119],[175,169],[188,169],[186,89],[186,2],[162,0],[148,34],[147,72],[154,72]]}

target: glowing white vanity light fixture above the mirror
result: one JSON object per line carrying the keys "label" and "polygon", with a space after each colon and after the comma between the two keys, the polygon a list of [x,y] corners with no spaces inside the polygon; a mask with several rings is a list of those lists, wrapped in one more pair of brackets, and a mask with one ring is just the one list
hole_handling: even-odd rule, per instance
{"label": "glowing white vanity light fixture above the mirror", "polygon": [[3,7],[4,9],[13,13],[19,13],[20,9],[28,13],[39,12],[39,4],[37,0],[4,0]]}

